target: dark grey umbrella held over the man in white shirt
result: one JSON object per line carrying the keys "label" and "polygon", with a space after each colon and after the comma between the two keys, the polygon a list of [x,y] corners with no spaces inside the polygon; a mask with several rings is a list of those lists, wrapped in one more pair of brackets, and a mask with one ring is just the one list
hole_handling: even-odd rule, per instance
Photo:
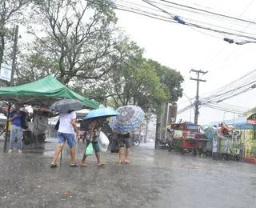
{"label": "dark grey umbrella held over the man in white shirt", "polygon": [[66,112],[70,110],[81,110],[83,103],[78,100],[73,99],[64,99],[57,102],[54,102],[50,106],[50,112]]}

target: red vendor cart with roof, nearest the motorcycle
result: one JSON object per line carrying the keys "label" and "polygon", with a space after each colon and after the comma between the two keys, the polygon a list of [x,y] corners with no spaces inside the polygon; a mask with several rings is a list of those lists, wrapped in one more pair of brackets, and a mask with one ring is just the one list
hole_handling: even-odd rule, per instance
{"label": "red vendor cart with roof, nearest the motorcycle", "polygon": [[200,126],[192,122],[179,122],[171,124],[174,130],[172,135],[172,146],[181,154],[198,154]]}

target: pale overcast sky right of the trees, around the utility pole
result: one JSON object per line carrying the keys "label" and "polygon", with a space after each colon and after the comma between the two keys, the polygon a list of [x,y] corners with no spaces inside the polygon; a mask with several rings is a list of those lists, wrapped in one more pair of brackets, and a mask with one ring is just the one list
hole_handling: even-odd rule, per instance
{"label": "pale overcast sky right of the trees, around the utility pole", "polygon": [[[136,2],[149,6],[139,0],[126,0],[126,2]],[[206,10],[211,8],[211,10],[218,13],[254,22],[256,19],[254,12],[256,1],[174,0],[171,2],[196,7],[200,5],[200,8]],[[152,58],[162,63],[162,65],[169,66],[182,73],[185,78],[182,85],[184,94],[190,98],[194,98],[196,94],[196,82],[190,80],[191,76],[195,78],[195,74],[189,73],[191,68],[208,71],[208,74],[202,77],[206,78],[207,82],[200,83],[200,95],[225,86],[256,68],[256,59],[254,58],[256,44],[237,46],[224,42],[222,38],[225,35],[222,38],[214,38],[188,26],[162,22],[120,10],[117,11],[117,15],[119,26],[126,30],[130,38],[146,50],[146,58]],[[201,19],[201,21],[204,20]],[[206,21],[209,22],[209,19]],[[255,25],[243,23],[241,26],[240,23],[240,26],[237,26],[237,24],[238,22],[234,21],[234,25],[230,26],[230,29],[248,31],[250,34],[256,35]],[[245,94],[226,100],[225,103],[252,108],[256,106],[255,93],[255,90],[250,90]],[[178,109],[188,106],[190,102],[187,102],[187,100],[185,96],[181,98],[178,101],[178,103],[181,103],[178,105]],[[221,121],[223,115],[223,111],[202,107],[198,121],[199,124]],[[189,121],[190,110],[178,114],[178,118]],[[226,113],[225,118],[234,118],[234,114]],[[192,120],[194,120],[194,110],[192,110]]]}

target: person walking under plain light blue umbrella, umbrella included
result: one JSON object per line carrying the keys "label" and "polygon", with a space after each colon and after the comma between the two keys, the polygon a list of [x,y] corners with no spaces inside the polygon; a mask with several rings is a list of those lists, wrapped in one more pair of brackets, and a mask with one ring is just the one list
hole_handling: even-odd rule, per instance
{"label": "person walking under plain light blue umbrella, umbrella included", "polygon": [[[109,108],[102,108],[102,109],[98,109],[98,110],[92,110],[89,114],[86,115],[86,117],[84,118],[84,120],[90,119],[90,126],[89,126],[89,137],[87,137],[87,142],[86,142],[86,148],[87,146],[90,145],[90,142],[93,145],[94,151],[95,151],[95,155],[98,161],[98,166],[104,166],[106,165],[105,162],[101,161],[101,154],[100,154],[100,150],[99,150],[99,146],[98,146],[98,138],[99,135],[101,133],[101,126],[100,126],[100,119],[102,118],[107,118],[110,116],[116,116],[119,113],[115,110],[109,109]],[[86,164],[86,151],[85,154],[82,157],[82,162],[81,162],[81,166],[88,166],[88,164]]]}

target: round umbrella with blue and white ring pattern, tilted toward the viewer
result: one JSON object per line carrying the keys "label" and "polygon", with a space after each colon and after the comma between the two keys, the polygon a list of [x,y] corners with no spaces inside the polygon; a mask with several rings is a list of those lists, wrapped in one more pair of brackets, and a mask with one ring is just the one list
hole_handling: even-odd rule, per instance
{"label": "round umbrella with blue and white ring pattern, tilted toward the viewer", "polygon": [[120,115],[110,118],[109,125],[119,134],[130,133],[144,120],[144,112],[139,106],[122,106],[117,111]]}

